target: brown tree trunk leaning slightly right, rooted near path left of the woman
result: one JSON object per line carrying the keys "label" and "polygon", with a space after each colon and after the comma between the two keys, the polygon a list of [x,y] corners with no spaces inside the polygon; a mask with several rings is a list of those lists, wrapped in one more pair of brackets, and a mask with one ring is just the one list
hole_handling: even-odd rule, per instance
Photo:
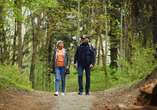
{"label": "brown tree trunk leaning slightly right, rooted near path left of the woman", "polygon": [[[40,11],[39,11],[40,13]],[[36,29],[36,36],[33,42],[33,55],[32,55],[32,61],[31,61],[31,70],[30,70],[30,81],[32,82],[32,88],[35,87],[35,60],[36,60],[36,51],[37,51],[37,45],[38,45],[38,37],[39,37],[39,32],[40,32],[40,15],[37,15],[37,29]]]}

